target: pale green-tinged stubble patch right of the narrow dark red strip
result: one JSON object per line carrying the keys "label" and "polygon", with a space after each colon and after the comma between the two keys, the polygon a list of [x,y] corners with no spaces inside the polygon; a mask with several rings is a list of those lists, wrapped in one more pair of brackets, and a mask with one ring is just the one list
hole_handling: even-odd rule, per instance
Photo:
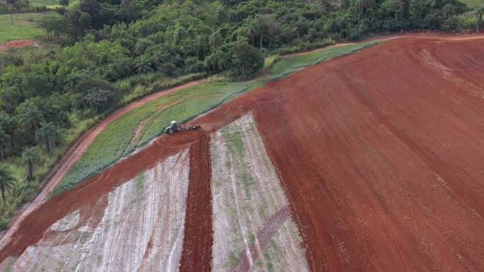
{"label": "pale green-tinged stubble patch right of the narrow dark red strip", "polygon": [[[252,114],[212,134],[212,271],[236,268],[246,256],[251,271],[308,271],[301,237],[292,218],[270,242],[258,234],[289,205]],[[265,247],[264,245],[267,244]],[[250,246],[255,245],[251,251]]]}

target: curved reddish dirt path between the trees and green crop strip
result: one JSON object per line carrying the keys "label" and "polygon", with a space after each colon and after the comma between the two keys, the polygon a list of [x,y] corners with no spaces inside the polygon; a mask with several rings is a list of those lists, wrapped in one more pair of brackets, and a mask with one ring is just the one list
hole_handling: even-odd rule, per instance
{"label": "curved reddish dirt path between the trees and green crop strip", "polygon": [[57,162],[54,168],[52,168],[52,170],[50,171],[50,174],[47,175],[47,177],[45,177],[45,179],[41,182],[41,184],[45,184],[45,186],[43,187],[40,194],[38,194],[38,196],[36,196],[32,202],[25,203],[23,205],[23,209],[11,220],[10,227],[8,228],[8,230],[6,230],[6,232],[4,232],[4,235],[2,235],[1,237],[0,248],[3,247],[4,244],[8,241],[12,233],[18,229],[18,224],[25,218],[25,216],[32,213],[35,208],[38,208],[41,203],[44,203],[47,200],[47,197],[52,192],[52,190],[54,190],[54,187],[56,187],[62,177],[64,177],[69,169],[71,169],[72,165],[74,165],[74,163],[79,160],[79,158],[81,158],[84,151],[86,151],[86,149],[94,141],[96,136],[98,136],[98,134],[100,134],[101,131],[103,131],[106,126],[108,126],[108,124],[113,122],[115,119],[120,118],[123,114],[129,112],[130,110],[144,105],[146,102],[155,100],[156,98],[167,95],[168,93],[172,93],[176,90],[188,88],[192,85],[202,83],[203,81],[204,79],[200,79],[198,81],[191,81],[183,85],[152,93],[151,95],[146,95],[145,97],[142,97],[139,100],[135,100],[134,102],[129,103],[127,106],[122,107],[120,110],[109,114],[108,117],[105,117],[105,119],[103,119],[101,122],[93,126],[91,129],[88,129],[88,131],[84,132],[79,138],[77,138],[77,140],[67,150],[67,152],[62,155],[61,160]]}

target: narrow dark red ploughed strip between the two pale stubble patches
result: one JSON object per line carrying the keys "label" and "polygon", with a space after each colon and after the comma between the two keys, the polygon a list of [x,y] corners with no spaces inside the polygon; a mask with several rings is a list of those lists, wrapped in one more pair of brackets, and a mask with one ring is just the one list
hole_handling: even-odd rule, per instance
{"label": "narrow dark red ploughed strip between the two pale stubble patches", "polygon": [[212,267],[212,190],[209,135],[202,134],[190,147],[185,235],[180,271],[210,271]]}

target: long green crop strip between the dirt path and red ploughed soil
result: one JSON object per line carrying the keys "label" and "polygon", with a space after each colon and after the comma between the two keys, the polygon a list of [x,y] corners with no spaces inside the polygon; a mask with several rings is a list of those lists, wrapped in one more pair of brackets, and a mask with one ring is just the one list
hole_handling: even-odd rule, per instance
{"label": "long green crop strip between the dirt path and red ploughed soil", "polygon": [[[113,165],[120,158],[132,153],[135,148],[146,145],[152,138],[162,134],[164,127],[173,119],[179,122],[188,121],[231,100],[240,93],[263,85],[267,81],[282,78],[302,67],[325,61],[331,57],[350,54],[374,44],[376,42],[333,47],[311,54],[280,59],[268,71],[270,73],[269,79],[241,82],[231,82],[224,79],[207,81],[178,90],[137,107],[105,127],[81,159],[62,178],[54,189],[54,194],[75,186],[83,179]],[[141,133],[133,139],[134,131],[141,122],[144,122]]]}

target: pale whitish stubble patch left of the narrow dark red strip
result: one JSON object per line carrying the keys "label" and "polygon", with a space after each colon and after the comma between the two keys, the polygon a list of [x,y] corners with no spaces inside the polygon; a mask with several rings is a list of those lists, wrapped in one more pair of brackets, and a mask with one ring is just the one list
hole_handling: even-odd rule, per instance
{"label": "pale whitish stubble patch left of the narrow dark red strip", "polygon": [[189,167],[188,149],[167,158],[54,223],[0,271],[178,271]]}

